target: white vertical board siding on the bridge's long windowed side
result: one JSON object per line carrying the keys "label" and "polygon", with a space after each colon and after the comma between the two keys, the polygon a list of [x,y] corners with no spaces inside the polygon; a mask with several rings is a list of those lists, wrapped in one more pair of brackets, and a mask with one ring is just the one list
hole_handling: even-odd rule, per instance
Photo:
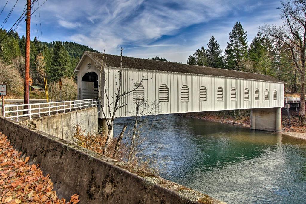
{"label": "white vertical board siding on the bridge's long windowed side", "polygon": [[[116,68],[107,67],[106,86],[109,87],[108,95],[110,96],[110,98],[115,97],[115,76],[118,77],[118,72],[116,71]],[[159,103],[158,114],[230,109],[270,108],[284,106],[283,83],[244,80],[217,76],[158,72],[151,70],[123,69],[122,91],[126,92],[132,90],[133,86],[135,85],[134,83],[140,83],[143,76],[144,79],[146,79],[142,82],[142,85],[144,86],[144,97],[147,102],[158,102],[159,87],[162,84],[166,84],[169,88],[169,102]],[[183,85],[187,85],[189,88],[188,102],[181,102],[181,87]],[[205,86],[207,89],[206,101],[200,101],[201,86]],[[217,101],[217,89],[219,86],[223,88],[223,101]],[[235,87],[237,91],[236,101],[231,100],[232,87]],[[248,88],[249,90],[249,100],[244,100],[245,88]],[[255,101],[256,88],[258,88],[260,91],[259,101]],[[269,100],[265,100],[264,97],[266,89],[269,90]],[[277,91],[277,100],[273,100],[274,90]],[[104,102],[106,102],[105,99]],[[127,103],[127,106],[119,109],[116,115],[118,117],[131,116],[131,112],[134,111],[135,106],[132,100],[132,94],[123,98],[122,102]]]}

